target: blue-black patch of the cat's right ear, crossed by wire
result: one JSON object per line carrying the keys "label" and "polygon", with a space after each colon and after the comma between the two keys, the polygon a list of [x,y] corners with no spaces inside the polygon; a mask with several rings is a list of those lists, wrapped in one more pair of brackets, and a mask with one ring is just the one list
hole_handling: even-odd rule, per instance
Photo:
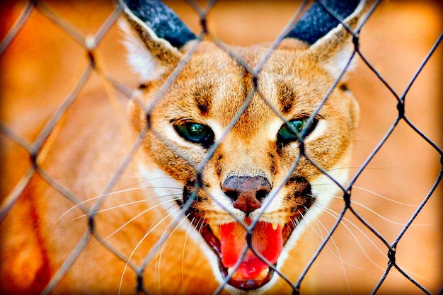
{"label": "blue-black patch of the cat's right ear, crossed by wire", "polygon": [[[334,11],[340,18],[345,19],[355,11],[359,0],[318,0],[324,6]],[[309,45],[326,35],[330,30],[339,25],[340,22],[332,16],[317,1],[301,16],[300,20],[286,37],[293,37]]]}

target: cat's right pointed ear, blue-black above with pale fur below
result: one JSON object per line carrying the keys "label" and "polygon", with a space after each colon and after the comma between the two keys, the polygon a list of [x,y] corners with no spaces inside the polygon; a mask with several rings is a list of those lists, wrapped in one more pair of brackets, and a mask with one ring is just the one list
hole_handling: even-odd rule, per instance
{"label": "cat's right pointed ear, blue-black above with pale fur below", "polygon": [[340,21],[355,30],[365,8],[364,0],[318,0],[301,16],[287,37],[311,45],[309,54],[331,76],[338,78],[354,52],[352,34]]}

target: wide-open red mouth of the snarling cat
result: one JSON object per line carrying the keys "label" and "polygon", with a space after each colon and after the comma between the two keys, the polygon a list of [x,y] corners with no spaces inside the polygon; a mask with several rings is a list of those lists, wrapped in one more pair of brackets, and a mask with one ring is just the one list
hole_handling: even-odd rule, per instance
{"label": "wide-open red mouth of the snarling cat", "polygon": [[[252,235],[247,235],[245,227],[236,221],[220,226],[200,224],[200,233],[217,254],[220,272],[223,279],[229,277],[229,285],[243,290],[258,289],[272,279],[284,244],[303,213],[294,216],[287,224],[259,221]],[[247,225],[251,224],[251,219],[246,218],[244,221]]]}

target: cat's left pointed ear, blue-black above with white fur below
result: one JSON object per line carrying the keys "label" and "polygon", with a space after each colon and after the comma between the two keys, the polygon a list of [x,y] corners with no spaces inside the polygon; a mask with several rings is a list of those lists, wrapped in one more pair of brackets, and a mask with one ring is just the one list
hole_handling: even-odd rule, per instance
{"label": "cat's left pointed ear, blue-black above with white fur below", "polygon": [[195,35],[159,0],[120,0],[129,63],[142,83],[160,79],[183,56],[180,48]]}

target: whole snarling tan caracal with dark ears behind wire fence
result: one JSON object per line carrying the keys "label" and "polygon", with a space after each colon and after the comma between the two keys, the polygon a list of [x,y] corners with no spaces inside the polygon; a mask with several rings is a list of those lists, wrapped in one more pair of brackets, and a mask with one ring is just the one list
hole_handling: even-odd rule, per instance
{"label": "whole snarling tan caracal with dark ears behind wire fence", "polygon": [[160,1],[120,5],[140,79],[125,170],[143,187],[121,177],[103,194],[127,146],[103,101],[73,106],[42,163],[66,190],[35,176],[8,214],[23,226],[3,233],[1,288],[291,292],[299,237],[345,194],[359,108],[343,74],[364,1],[314,3],[278,44],[251,47],[202,40]]}

